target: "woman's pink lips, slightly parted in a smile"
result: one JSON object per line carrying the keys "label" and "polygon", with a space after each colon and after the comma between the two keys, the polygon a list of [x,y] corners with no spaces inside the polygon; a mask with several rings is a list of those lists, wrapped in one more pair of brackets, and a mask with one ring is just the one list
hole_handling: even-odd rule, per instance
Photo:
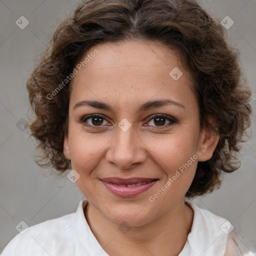
{"label": "woman's pink lips, slightly parted in a smile", "polygon": [[156,183],[156,178],[132,177],[123,179],[119,177],[102,178],[100,181],[113,194],[129,197],[144,192]]}

